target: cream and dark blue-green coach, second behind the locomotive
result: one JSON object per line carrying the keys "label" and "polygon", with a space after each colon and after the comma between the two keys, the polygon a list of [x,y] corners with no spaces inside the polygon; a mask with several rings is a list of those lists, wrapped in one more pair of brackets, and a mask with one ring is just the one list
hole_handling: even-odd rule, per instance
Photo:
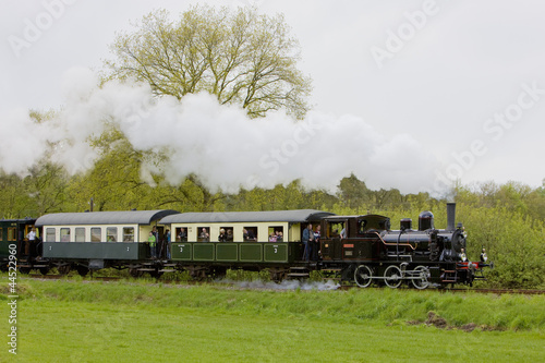
{"label": "cream and dark blue-green coach, second behind the locomotive", "polygon": [[158,221],[179,211],[126,210],[58,213],[36,220],[43,229],[43,257],[56,261],[61,273],[75,267],[82,275],[89,269],[124,268],[149,258],[146,243]]}

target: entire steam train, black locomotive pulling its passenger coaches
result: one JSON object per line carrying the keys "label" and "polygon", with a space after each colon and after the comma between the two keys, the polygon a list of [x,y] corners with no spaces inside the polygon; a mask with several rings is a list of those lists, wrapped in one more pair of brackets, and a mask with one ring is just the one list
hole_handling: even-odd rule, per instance
{"label": "entire steam train, black locomotive pulling its passenger coaches", "polygon": [[[417,229],[402,219],[399,230],[391,230],[385,216],[337,216],[314,209],[50,214],[0,223],[0,259],[2,269],[12,269],[10,256],[16,254],[21,273],[57,268],[84,276],[116,268],[135,277],[187,271],[204,279],[243,269],[267,270],[272,280],[281,281],[305,279],[317,270],[361,288],[471,286],[491,265],[467,261],[467,234],[461,223],[455,227],[455,213],[456,205],[448,204],[444,230],[435,229],[427,210],[419,216]],[[37,238],[28,241],[25,233],[33,228]],[[158,242],[157,255],[149,235]]]}

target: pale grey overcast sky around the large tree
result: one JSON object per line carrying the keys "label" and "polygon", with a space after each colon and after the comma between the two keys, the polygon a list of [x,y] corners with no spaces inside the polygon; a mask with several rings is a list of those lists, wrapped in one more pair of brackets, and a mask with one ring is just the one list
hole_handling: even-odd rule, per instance
{"label": "pale grey overcast sky around the large tree", "polygon": [[[429,158],[437,165],[432,162],[436,180],[427,191],[456,178],[464,184],[542,185],[545,2],[204,2],[283,13],[300,40],[300,69],[313,78],[316,112],[361,119],[382,143],[408,135],[426,154],[414,158],[392,147],[386,168],[375,160],[376,170],[359,174],[374,181],[372,186],[382,185],[371,173],[391,173],[395,181],[385,186],[403,189],[404,180],[428,172],[428,165],[419,164]],[[116,32],[131,29],[132,20],[157,8],[178,14],[194,3],[1,0],[2,122],[15,122],[7,114],[21,108],[60,108],[65,73],[77,66],[99,70]],[[346,130],[347,137],[353,132]],[[348,150],[337,157],[361,160]],[[404,166],[399,170],[405,177],[392,159]]]}

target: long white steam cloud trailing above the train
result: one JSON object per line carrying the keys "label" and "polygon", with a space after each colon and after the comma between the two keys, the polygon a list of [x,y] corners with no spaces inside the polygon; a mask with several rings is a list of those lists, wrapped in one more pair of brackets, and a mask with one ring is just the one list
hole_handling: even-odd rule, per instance
{"label": "long white steam cloud trailing above the train", "polygon": [[89,169],[97,155],[88,140],[107,121],[138,150],[168,147],[167,165],[144,166],[142,174],[161,172],[172,184],[195,173],[213,191],[272,187],[294,179],[334,191],[353,172],[372,189],[414,193],[431,190],[435,180],[438,161],[413,137],[378,131],[358,117],[311,111],[299,122],[282,112],[251,120],[206,93],[178,101],[154,98],[145,84],[96,85],[92,71],[72,69],[63,82],[65,105],[55,119],[36,124],[26,110],[3,114],[0,132],[10,136],[0,143],[0,167],[25,173],[57,143],[56,161],[71,173]]}

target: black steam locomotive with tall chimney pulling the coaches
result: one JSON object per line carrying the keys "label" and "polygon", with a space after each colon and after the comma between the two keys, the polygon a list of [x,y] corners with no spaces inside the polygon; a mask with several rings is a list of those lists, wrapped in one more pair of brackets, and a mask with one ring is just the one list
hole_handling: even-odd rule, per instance
{"label": "black steam locomotive with tall chimney pulling the coaches", "polygon": [[323,266],[337,268],[342,280],[362,288],[372,282],[390,288],[408,282],[416,289],[471,286],[474,279],[484,278],[483,267],[491,265],[467,259],[467,233],[462,223],[455,227],[455,215],[456,204],[449,203],[444,230],[435,229],[434,215],[427,210],[420,214],[417,230],[411,219],[402,219],[400,229],[391,230],[390,219],[384,216],[326,217]]}

